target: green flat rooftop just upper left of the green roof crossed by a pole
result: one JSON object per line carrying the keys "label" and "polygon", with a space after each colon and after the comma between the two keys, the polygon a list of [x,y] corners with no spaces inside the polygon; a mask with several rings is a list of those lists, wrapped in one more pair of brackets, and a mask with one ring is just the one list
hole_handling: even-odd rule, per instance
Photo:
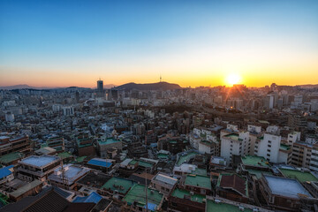
{"label": "green flat rooftop just upper left of the green roof crossed by a pole", "polygon": [[132,180],[125,178],[110,178],[103,186],[103,188],[117,191],[119,193],[126,193],[134,185]]}

